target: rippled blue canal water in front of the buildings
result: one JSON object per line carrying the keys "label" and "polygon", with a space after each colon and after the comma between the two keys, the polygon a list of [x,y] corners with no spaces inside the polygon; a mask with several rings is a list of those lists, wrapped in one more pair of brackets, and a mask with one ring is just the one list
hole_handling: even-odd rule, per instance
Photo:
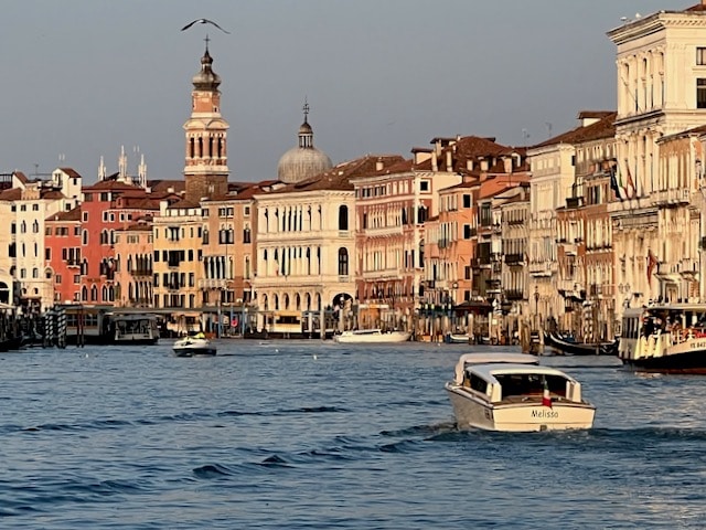
{"label": "rippled blue canal water in front of the buildings", "polygon": [[223,341],[0,354],[0,527],[706,527],[706,384],[543,358],[587,432],[454,428],[468,347]]}

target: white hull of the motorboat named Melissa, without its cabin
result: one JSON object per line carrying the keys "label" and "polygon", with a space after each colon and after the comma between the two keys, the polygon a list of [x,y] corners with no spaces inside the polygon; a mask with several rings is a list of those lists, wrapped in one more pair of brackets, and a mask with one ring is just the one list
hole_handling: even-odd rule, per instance
{"label": "white hull of the motorboat named Melissa, without its cabin", "polygon": [[541,398],[523,403],[489,403],[450,383],[446,390],[459,428],[502,432],[586,430],[592,427],[596,415],[596,409],[588,403],[552,403],[548,407],[542,404]]}

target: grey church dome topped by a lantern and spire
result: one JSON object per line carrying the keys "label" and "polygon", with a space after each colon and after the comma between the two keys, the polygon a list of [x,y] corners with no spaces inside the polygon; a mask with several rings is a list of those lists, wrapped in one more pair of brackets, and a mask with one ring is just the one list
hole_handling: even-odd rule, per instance
{"label": "grey church dome topped by a lantern and spire", "polygon": [[287,184],[301,182],[333,167],[327,153],[313,147],[313,129],[307,120],[308,113],[309,105],[304,104],[304,123],[299,127],[299,147],[285,152],[277,165],[277,178]]}

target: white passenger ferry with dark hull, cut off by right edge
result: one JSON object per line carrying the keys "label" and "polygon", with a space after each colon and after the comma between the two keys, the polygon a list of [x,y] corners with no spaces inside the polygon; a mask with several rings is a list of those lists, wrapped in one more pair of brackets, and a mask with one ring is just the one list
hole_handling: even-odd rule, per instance
{"label": "white passenger ferry with dark hull, cut off by right edge", "polygon": [[706,304],[625,309],[618,357],[638,370],[706,374]]}

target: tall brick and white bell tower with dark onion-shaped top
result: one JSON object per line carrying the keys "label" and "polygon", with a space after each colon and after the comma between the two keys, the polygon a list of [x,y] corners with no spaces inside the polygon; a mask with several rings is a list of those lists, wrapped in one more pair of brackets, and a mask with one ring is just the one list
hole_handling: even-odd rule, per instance
{"label": "tall brick and white bell tower with dark onion-shaped top", "polygon": [[186,199],[194,202],[224,195],[228,191],[228,124],[221,116],[221,77],[212,64],[206,36],[201,71],[192,78],[191,117],[184,124]]}

